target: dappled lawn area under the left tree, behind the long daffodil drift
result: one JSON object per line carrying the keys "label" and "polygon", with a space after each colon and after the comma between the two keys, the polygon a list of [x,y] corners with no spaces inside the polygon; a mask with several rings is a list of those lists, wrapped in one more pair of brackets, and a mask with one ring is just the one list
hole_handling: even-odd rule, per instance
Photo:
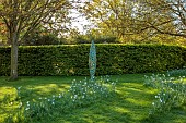
{"label": "dappled lawn area under the left tree, behind the long daffodil drift", "polygon": [[[57,95],[69,88],[70,81],[67,77],[22,77],[16,82],[8,82],[7,77],[0,77],[0,123],[8,114],[16,111],[20,102],[15,99],[21,87],[22,101],[26,102],[39,97]],[[9,96],[9,99],[7,98]]]}

